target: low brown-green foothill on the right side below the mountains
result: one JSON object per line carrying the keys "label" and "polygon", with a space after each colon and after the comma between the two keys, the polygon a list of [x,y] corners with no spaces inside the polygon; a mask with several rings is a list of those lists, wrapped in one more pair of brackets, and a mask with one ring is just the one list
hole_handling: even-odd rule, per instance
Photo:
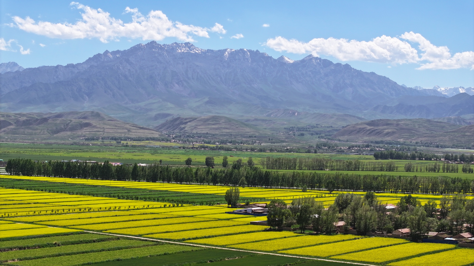
{"label": "low brown-green foothill on the right side below the mountains", "polygon": [[415,119],[377,119],[357,124],[351,124],[333,137],[350,141],[364,140],[394,140],[407,141],[422,136],[453,131],[461,125],[425,118]]}

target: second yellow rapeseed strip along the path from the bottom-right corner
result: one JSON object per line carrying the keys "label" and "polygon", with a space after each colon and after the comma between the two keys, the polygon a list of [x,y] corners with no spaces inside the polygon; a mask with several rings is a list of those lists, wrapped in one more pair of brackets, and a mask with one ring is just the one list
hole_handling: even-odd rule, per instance
{"label": "second yellow rapeseed strip along the path from the bottom-right corner", "polygon": [[402,245],[375,248],[356,253],[338,255],[331,258],[381,263],[426,252],[456,248],[455,245],[435,243],[407,243]]}

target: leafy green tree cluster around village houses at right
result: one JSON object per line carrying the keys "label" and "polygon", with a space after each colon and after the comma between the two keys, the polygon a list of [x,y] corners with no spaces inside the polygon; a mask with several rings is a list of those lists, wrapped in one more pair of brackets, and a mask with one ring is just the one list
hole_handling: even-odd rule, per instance
{"label": "leafy green tree cluster around village houses at right", "polygon": [[[385,204],[377,200],[375,193],[365,196],[338,194],[334,204],[325,209],[322,202],[313,197],[298,198],[287,205],[283,200],[272,200],[267,205],[267,223],[273,229],[300,225],[301,232],[332,233],[335,223],[344,221],[342,230],[355,229],[361,234],[375,231],[392,233],[409,228],[410,237],[419,240],[429,231],[451,232],[453,235],[474,233],[474,199],[464,195],[443,196],[437,202],[429,200],[421,205],[411,195],[401,197],[397,208],[388,212]],[[310,227],[310,228],[308,228]]]}

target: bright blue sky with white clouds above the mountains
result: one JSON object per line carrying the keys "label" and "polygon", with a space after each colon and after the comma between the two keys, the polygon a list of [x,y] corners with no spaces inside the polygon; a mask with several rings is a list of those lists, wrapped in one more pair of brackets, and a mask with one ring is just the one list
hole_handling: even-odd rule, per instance
{"label": "bright blue sky with white clouds above the mountains", "polygon": [[[0,8],[0,62],[23,67],[83,62],[153,39],[188,40],[204,49],[258,49],[293,60],[317,53],[409,87],[474,87],[472,0],[1,0]],[[166,19],[156,22],[160,14],[152,10]],[[104,16],[104,31],[92,27]],[[164,25],[168,30],[160,32]]]}

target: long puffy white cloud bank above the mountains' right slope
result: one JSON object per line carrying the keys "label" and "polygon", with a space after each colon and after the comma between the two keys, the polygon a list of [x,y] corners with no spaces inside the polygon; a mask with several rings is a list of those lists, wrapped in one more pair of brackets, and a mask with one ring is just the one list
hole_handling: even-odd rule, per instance
{"label": "long puffy white cloud bank above the mountains' right slope", "polygon": [[[419,44],[419,51],[409,42]],[[330,55],[341,61],[419,63],[418,69],[474,69],[474,52],[451,55],[446,46],[435,46],[422,35],[413,32],[405,32],[400,37],[382,35],[371,41],[330,37],[328,39],[315,38],[307,43],[277,36],[268,39],[264,45],[279,52],[312,53],[315,56]]]}

